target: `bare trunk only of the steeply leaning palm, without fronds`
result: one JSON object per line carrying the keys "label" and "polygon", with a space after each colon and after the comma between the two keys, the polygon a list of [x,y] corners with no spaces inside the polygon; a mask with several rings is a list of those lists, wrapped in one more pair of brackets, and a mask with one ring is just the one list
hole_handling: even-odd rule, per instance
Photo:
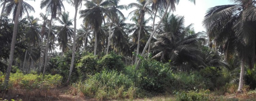
{"label": "bare trunk only of the steeply leaning palm, without fronds", "polygon": [[[160,24],[163,22],[164,17],[165,17],[165,15],[166,15],[166,13],[167,13],[167,11],[169,9],[169,6],[170,6],[170,2],[167,3],[167,7],[165,9],[165,13],[164,13],[163,17],[161,18],[161,20],[159,21],[159,23],[157,24],[157,26],[156,26],[155,30],[153,31],[153,33],[150,35],[149,40],[147,41],[147,44],[146,44],[146,46],[144,47],[144,49],[143,49],[143,51],[141,53],[141,56],[143,56],[145,54],[151,39],[153,38],[154,34],[156,33],[156,30],[159,28]],[[140,62],[141,62],[141,59],[139,59],[138,64],[137,64],[135,70],[137,70],[139,68]]]}

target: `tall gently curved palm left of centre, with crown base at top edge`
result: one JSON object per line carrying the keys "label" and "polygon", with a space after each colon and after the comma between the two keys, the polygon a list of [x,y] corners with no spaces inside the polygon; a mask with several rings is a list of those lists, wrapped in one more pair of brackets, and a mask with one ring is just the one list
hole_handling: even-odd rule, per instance
{"label": "tall gently curved palm left of centre, with crown base at top edge", "polygon": [[73,0],[72,2],[74,8],[75,8],[75,16],[74,16],[74,32],[73,32],[73,50],[72,50],[72,59],[71,59],[71,65],[70,65],[70,69],[69,69],[69,74],[68,74],[68,81],[70,79],[73,67],[74,67],[74,61],[75,61],[75,40],[76,40],[76,15],[77,15],[77,11],[78,11],[78,7],[82,6],[82,0]]}

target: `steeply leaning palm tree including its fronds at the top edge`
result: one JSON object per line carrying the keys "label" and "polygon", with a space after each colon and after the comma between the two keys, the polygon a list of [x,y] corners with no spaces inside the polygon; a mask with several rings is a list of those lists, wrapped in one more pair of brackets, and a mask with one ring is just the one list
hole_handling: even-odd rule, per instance
{"label": "steeply leaning palm tree including its fronds at the top edge", "polygon": [[[165,13],[163,14],[163,16],[165,16],[165,15],[167,14],[169,7],[171,7],[171,9],[174,9],[174,8],[175,8],[175,4],[178,3],[179,1],[180,1],[180,0],[168,0],[168,1],[167,1],[167,6],[166,6],[166,9],[165,9]],[[189,1],[191,1],[191,2],[193,2],[193,3],[195,4],[195,0],[189,0]],[[163,20],[164,20],[164,17],[161,18],[161,20],[158,22],[158,24],[157,24],[155,30],[154,30],[154,31],[152,32],[152,34],[150,35],[150,38],[149,38],[149,40],[147,41],[147,44],[146,44],[146,46],[144,47],[144,49],[143,49],[143,51],[142,51],[142,53],[141,53],[141,56],[143,56],[143,55],[145,54],[145,52],[146,52],[146,50],[147,50],[147,48],[148,48],[148,46],[149,46],[149,43],[151,42],[151,39],[152,39],[153,36],[155,35],[156,30],[159,28],[159,26],[160,26],[160,24],[162,23]],[[139,59],[138,64],[137,64],[135,70],[137,70],[137,69],[139,68],[140,62],[141,62],[141,59]]]}

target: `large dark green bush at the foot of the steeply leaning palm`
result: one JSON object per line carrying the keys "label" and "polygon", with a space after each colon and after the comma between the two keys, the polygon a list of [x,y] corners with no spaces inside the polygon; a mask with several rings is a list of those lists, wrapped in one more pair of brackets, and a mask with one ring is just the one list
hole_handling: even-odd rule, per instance
{"label": "large dark green bush at the foot of the steeply leaning palm", "polygon": [[137,87],[148,92],[168,91],[173,80],[169,64],[155,60],[143,60],[135,73],[134,67],[126,68],[125,73],[133,78]]}

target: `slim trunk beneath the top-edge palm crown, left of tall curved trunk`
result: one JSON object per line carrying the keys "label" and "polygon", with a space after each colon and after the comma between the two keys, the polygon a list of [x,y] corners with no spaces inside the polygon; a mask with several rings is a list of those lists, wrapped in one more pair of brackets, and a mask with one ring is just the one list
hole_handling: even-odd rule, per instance
{"label": "slim trunk beneath the top-edge palm crown, left of tall curved trunk", "polygon": [[45,75],[45,70],[46,70],[46,67],[47,67],[47,59],[48,59],[48,47],[49,47],[49,42],[50,42],[50,34],[51,34],[51,31],[52,31],[52,19],[53,19],[53,16],[51,16],[51,20],[49,22],[49,31],[48,31],[48,37],[47,37],[47,43],[46,43],[46,49],[45,49],[45,65],[44,65],[44,71],[43,71],[43,76]]}

